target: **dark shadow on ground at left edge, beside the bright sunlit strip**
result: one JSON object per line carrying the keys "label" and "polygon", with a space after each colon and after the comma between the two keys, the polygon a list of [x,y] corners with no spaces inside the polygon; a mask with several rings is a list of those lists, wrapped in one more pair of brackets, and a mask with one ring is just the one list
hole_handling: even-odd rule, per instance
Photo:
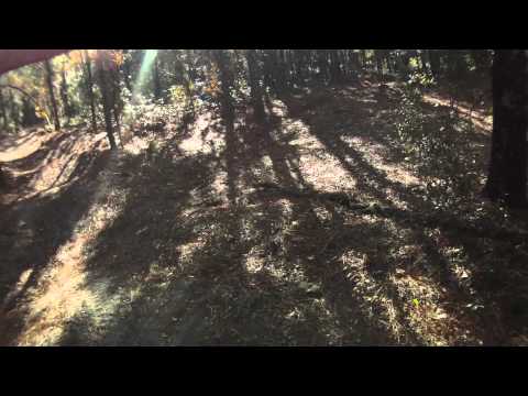
{"label": "dark shadow on ground at left edge, beside the bright sunlit strip", "polygon": [[[30,198],[2,213],[8,238],[2,238],[4,252],[1,271],[2,340],[10,344],[24,322],[25,294],[36,285],[41,274],[52,265],[58,249],[66,243],[91,205],[96,176],[109,161],[108,152],[87,154],[84,177],[55,194]],[[22,274],[24,277],[20,283]]]}

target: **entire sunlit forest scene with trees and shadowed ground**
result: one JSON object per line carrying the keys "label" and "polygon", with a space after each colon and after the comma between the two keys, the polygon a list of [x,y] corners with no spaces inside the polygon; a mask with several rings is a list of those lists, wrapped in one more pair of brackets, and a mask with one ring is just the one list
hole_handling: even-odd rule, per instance
{"label": "entire sunlit forest scene with trees and shadowed ground", "polygon": [[0,50],[0,345],[528,345],[528,52]]}

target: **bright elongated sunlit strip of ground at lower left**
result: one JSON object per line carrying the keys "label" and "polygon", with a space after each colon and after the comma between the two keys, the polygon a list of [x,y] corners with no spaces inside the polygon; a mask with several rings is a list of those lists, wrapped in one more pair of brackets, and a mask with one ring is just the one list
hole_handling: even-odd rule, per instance
{"label": "bright elongated sunlit strip of ground at lower left", "polygon": [[[18,310],[25,312],[25,324],[20,331],[19,345],[52,345],[61,341],[65,327],[79,314],[111,315],[118,302],[107,293],[105,279],[87,286],[85,248],[109,222],[119,216],[125,191],[112,187],[119,158],[100,175],[90,210],[76,226],[70,240],[64,244],[36,283],[24,296]],[[30,274],[24,273],[22,277]],[[24,282],[21,279],[21,282]],[[97,323],[96,323],[97,324]]]}

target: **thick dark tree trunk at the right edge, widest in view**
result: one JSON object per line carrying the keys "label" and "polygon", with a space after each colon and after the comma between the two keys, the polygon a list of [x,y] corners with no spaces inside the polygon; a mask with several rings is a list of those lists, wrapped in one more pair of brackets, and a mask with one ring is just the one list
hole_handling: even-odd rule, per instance
{"label": "thick dark tree trunk at the right edge, widest in view", "polygon": [[525,51],[495,50],[493,135],[485,194],[510,207],[526,205],[528,61]]}

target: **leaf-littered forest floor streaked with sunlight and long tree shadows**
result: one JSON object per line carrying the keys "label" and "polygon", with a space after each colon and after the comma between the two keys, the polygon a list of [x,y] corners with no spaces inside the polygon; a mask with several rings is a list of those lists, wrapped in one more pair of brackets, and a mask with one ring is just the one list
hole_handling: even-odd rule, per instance
{"label": "leaf-littered forest floor streaked with sunlight and long tree shadows", "polygon": [[165,109],[116,153],[84,127],[8,136],[0,344],[528,344],[526,213],[477,194],[490,116],[459,105],[458,197],[430,183],[450,164],[398,143],[400,95],[298,89],[264,122]]}

